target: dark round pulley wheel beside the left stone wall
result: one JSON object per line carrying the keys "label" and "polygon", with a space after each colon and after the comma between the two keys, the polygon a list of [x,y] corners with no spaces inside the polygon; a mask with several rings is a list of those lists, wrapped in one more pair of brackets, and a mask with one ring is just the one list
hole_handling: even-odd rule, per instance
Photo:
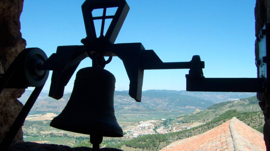
{"label": "dark round pulley wheel beside the left stone wall", "polygon": [[41,65],[48,59],[46,53],[39,48],[26,48],[24,54],[23,72],[28,87],[41,87],[45,84],[49,71],[41,70]]}

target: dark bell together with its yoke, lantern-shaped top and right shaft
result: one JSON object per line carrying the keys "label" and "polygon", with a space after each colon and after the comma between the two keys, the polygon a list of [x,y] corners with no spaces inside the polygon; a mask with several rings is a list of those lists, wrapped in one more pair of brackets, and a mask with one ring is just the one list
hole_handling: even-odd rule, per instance
{"label": "dark bell together with its yoke, lantern-shaped top and right shaft", "polygon": [[[110,7],[117,7],[116,13],[113,16],[106,16],[106,10]],[[93,17],[92,11],[94,9],[103,9],[103,15]],[[60,46],[56,54],[48,59],[55,60],[54,58],[59,58],[67,51],[73,54],[70,55],[70,61],[67,61],[67,66],[71,67],[70,69],[62,68],[64,71],[61,74],[58,71],[53,71],[52,81],[54,82],[51,84],[49,96],[56,99],[62,97],[64,86],[69,80],[65,80],[67,76],[63,74],[67,73],[71,76],[70,73],[74,72],[79,61],[83,58],[90,57],[92,67],[86,67],[77,72],[70,100],[62,113],[52,120],[50,126],[88,134],[91,143],[97,139],[102,141],[103,136],[123,136],[113,108],[115,78],[112,73],[104,70],[105,65],[110,63],[113,56],[122,59],[130,79],[129,95],[138,102],[141,101],[143,71],[145,69],[190,68],[190,62],[163,63],[153,50],[145,50],[141,43],[114,44],[128,11],[129,6],[125,0],[86,0],[82,4],[87,37],[81,40],[83,46]],[[96,19],[102,20],[99,37],[94,25]],[[112,19],[112,21],[104,35],[105,19]],[[105,61],[104,56],[109,56],[109,59]],[[77,64],[75,63],[75,66],[72,67],[69,65],[70,62]],[[203,62],[199,61],[199,63],[203,66]],[[50,64],[49,61],[48,64]],[[89,120],[86,121],[85,116]],[[93,148],[99,148],[101,141],[93,142]]]}

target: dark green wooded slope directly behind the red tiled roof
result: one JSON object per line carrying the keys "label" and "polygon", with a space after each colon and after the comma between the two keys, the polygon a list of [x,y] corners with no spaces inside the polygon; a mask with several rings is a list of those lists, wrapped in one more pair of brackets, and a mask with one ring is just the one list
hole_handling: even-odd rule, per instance
{"label": "dark green wooded slope directly behind the red tiled roof", "polygon": [[[237,110],[228,110],[225,113],[221,114],[219,117],[214,118],[213,120],[207,122],[206,124],[191,128],[189,130],[182,130],[179,132],[169,133],[169,143],[211,130],[212,128],[217,127],[218,125],[224,123],[225,121],[231,119],[232,117],[236,117],[239,120],[250,121],[251,119],[253,119],[253,115],[258,116],[259,119],[262,120],[262,113],[260,112],[242,113],[238,112]],[[261,125],[259,127],[253,128],[262,132]],[[167,134],[143,135],[138,138],[134,138],[130,141],[125,141],[116,145],[112,145],[110,147],[120,148],[122,146],[126,146],[144,150],[160,150],[167,145],[168,139],[167,136],[168,136]]]}

